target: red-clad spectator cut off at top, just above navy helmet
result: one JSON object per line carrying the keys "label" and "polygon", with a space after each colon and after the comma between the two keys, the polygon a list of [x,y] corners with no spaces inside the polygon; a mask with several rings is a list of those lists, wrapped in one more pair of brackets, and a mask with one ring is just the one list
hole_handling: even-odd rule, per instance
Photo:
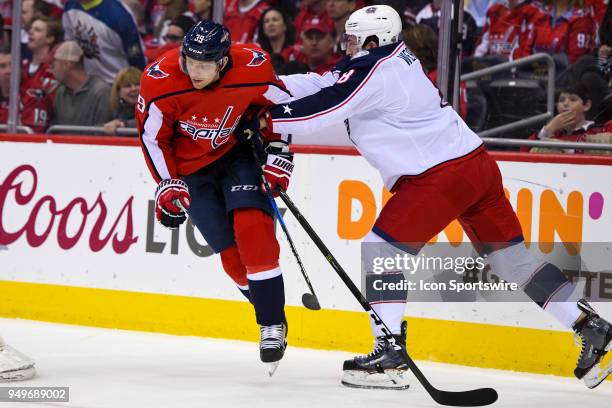
{"label": "red-clad spectator cut off at top, just above navy helmet", "polygon": [[265,0],[229,0],[223,24],[229,29],[232,41],[243,44],[258,41],[257,26],[268,8],[270,3]]}

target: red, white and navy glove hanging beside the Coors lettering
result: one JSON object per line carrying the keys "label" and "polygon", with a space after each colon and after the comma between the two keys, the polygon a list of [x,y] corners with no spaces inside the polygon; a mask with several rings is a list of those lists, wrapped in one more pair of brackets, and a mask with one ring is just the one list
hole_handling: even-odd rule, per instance
{"label": "red, white and navy glove hanging beside the Coors lettering", "polygon": [[175,229],[187,219],[191,196],[179,179],[162,180],[155,190],[155,217],[164,227]]}

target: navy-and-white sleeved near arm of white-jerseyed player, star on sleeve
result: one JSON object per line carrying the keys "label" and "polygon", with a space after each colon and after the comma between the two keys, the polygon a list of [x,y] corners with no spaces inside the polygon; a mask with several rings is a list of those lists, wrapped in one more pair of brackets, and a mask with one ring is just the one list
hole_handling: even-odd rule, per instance
{"label": "navy-and-white sleeved near arm of white-jerseyed player, star on sleeve", "polygon": [[383,102],[383,81],[386,78],[380,69],[350,69],[333,86],[271,109],[272,131],[311,134],[375,109]]}

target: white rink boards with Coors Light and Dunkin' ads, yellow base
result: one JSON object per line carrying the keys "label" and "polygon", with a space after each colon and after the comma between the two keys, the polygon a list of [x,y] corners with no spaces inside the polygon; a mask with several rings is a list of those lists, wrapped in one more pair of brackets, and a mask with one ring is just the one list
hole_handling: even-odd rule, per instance
{"label": "white rink boards with Coors Light and Dunkin' ads, yellow base", "polygon": [[[135,140],[0,141],[0,316],[257,339],[250,304],[200,234],[154,221],[155,185]],[[352,149],[296,150],[289,193],[360,282],[359,240],[389,195]],[[495,157],[528,240],[608,239],[612,159]],[[301,307],[306,286],[279,229],[290,343],[367,351],[369,324],[359,305],[293,217],[286,222],[324,308]],[[453,225],[438,239],[466,240]],[[609,303],[599,309],[612,315]],[[572,335],[527,303],[414,303],[408,316],[417,359],[570,375],[578,355]]]}

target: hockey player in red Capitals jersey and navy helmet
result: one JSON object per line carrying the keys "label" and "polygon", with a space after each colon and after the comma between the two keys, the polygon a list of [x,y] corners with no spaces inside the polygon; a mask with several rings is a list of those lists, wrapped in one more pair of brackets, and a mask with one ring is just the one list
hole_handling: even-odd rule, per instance
{"label": "hockey player in red Capitals jersey and navy helmet", "polygon": [[[255,307],[260,357],[272,375],[287,344],[279,245],[269,200],[259,189],[261,170],[234,130],[247,108],[285,101],[289,94],[266,53],[255,45],[230,44],[227,28],[200,21],[180,49],[147,66],[137,126],[159,183],[158,221],[178,228],[188,214],[221,255],[223,268]],[[271,185],[286,189],[293,164],[283,147],[282,140],[269,143],[264,174]]]}

